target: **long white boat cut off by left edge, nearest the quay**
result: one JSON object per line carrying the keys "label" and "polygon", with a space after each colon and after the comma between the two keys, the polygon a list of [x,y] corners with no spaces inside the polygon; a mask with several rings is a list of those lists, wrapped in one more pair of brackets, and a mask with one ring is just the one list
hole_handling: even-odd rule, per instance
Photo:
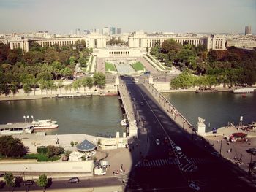
{"label": "long white boat cut off by left edge, nearest the quay", "polygon": [[0,134],[31,134],[34,126],[27,123],[7,123],[0,125]]}

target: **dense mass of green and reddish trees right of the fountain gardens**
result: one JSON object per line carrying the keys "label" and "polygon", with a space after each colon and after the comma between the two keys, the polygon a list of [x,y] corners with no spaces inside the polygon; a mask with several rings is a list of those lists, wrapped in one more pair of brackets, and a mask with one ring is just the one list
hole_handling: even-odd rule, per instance
{"label": "dense mass of green and reddish trees right of the fountain gardens", "polygon": [[162,46],[158,43],[152,47],[150,53],[166,66],[176,66],[184,72],[170,83],[173,88],[221,83],[253,85],[256,82],[256,50],[228,47],[208,51],[203,45],[195,47],[186,42],[181,45],[169,39],[162,42]]}

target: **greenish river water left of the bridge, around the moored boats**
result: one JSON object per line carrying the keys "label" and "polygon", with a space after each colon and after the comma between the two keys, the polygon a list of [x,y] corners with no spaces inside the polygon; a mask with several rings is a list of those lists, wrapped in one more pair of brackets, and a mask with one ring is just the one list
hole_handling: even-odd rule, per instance
{"label": "greenish river water left of the bridge, around the moored boats", "polygon": [[91,134],[116,136],[122,132],[123,117],[117,96],[92,96],[81,99],[35,99],[0,102],[0,124],[22,122],[23,115],[34,120],[57,120],[59,128],[47,134]]}

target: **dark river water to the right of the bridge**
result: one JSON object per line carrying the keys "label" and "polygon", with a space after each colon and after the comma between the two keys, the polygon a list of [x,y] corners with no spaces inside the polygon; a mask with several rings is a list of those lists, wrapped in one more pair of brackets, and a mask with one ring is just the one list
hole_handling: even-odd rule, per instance
{"label": "dark river water to the right of the bridge", "polygon": [[193,126],[198,117],[206,119],[206,131],[226,126],[228,122],[239,123],[243,116],[244,124],[256,121],[256,94],[230,92],[218,93],[163,93],[168,101],[184,115]]}

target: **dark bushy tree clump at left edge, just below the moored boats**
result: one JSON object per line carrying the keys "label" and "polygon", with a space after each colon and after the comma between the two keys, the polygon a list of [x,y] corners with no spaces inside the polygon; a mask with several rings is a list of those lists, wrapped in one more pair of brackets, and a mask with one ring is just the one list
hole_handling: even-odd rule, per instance
{"label": "dark bushy tree clump at left edge, just below the moored boats", "polygon": [[21,157],[26,155],[28,148],[23,145],[20,139],[12,136],[0,137],[0,154],[5,157]]}

